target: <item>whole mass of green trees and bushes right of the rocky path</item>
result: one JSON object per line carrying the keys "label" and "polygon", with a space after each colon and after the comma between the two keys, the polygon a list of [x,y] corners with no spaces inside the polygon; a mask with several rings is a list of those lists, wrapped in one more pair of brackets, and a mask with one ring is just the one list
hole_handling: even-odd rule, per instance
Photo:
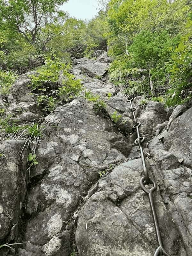
{"label": "whole mass of green trees and bushes right of the rocky path", "polygon": [[163,94],[168,106],[191,99],[190,8],[187,0],[109,1],[108,53],[116,57],[109,72],[117,92],[161,102]]}

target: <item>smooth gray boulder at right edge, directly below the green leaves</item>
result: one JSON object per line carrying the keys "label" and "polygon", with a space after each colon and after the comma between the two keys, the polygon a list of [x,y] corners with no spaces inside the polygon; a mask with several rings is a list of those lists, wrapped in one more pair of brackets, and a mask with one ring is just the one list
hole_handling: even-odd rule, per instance
{"label": "smooth gray boulder at right edge, directly below the green leaves", "polygon": [[178,159],[183,158],[186,166],[192,167],[192,108],[174,119],[164,137],[164,146]]}

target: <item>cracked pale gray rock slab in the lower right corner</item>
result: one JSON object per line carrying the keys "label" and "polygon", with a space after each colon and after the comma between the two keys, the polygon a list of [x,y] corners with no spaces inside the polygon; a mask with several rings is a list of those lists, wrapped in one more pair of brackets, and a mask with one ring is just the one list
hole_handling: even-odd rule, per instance
{"label": "cracked pale gray rock slab in the lower right corner", "polygon": [[192,170],[177,168],[164,171],[165,200],[172,221],[179,230],[187,255],[192,254]]}

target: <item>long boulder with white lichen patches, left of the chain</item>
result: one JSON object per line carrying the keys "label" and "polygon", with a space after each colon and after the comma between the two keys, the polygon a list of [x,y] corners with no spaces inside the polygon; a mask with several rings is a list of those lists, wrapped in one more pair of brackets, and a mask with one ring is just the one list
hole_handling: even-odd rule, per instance
{"label": "long boulder with white lichen patches, left of the chain", "polygon": [[[63,251],[69,240],[63,235],[68,221],[98,180],[98,172],[124,161],[129,145],[123,135],[117,136],[109,119],[97,116],[92,104],[81,98],[56,108],[42,125],[47,138],[41,141],[36,152],[39,164],[31,172],[39,182],[29,190],[26,206],[24,240],[31,246],[20,249],[20,255],[68,256],[70,248]],[[58,246],[50,252],[54,242]]]}

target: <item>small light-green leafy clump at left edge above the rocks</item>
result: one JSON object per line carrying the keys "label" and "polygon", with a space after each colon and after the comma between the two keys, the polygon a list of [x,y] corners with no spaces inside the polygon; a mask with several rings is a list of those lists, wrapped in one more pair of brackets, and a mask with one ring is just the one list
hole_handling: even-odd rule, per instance
{"label": "small light-green leafy clump at left edge above the rocks", "polygon": [[7,96],[9,94],[9,89],[15,82],[17,75],[12,71],[0,70],[0,94]]}

